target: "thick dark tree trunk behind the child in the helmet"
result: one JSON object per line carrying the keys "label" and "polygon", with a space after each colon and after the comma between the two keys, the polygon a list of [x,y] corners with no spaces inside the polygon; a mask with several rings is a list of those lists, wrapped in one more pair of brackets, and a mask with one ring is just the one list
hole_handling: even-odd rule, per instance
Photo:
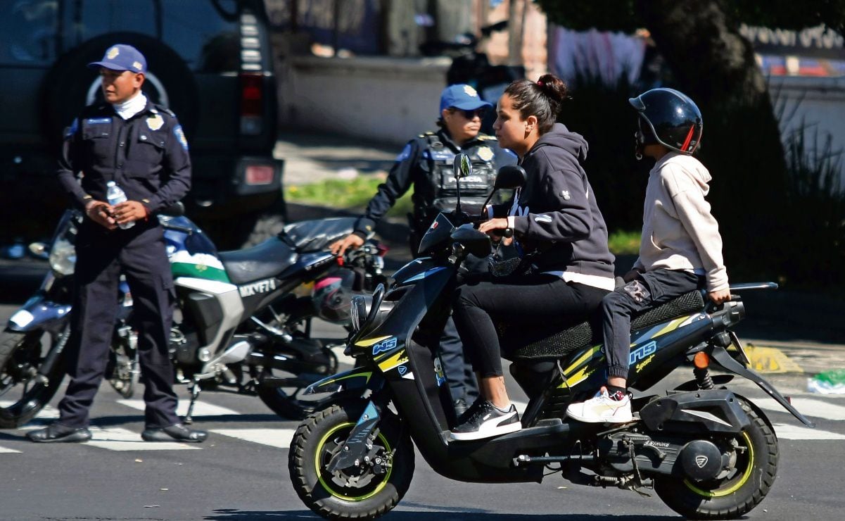
{"label": "thick dark tree trunk behind the child in the helmet", "polygon": [[728,271],[731,260],[747,265],[757,252],[785,253],[777,244],[786,241],[773,231],[785,213],[787,167],[750,42],[718,0],[636,0],[636,7],[679,89],[701,108],[701,159],[713,176],[708,199],[725,239]]}

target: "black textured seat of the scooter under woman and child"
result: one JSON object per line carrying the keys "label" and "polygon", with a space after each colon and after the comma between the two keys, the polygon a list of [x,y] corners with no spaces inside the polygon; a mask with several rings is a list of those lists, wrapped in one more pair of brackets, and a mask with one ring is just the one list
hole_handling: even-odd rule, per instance
{"label": "black textured seat of the scooter under woman and child", "polygon": [[[673,318],[689,315],[704,308],[701,291],[684,293],[676,299],[660,304],[631,318],[631,331],[656,326]],[[567,356],[581,348],[602,343],[601,323],[581,321],[561,328],[553,326],[496,325],[502,357],[509,360],[553,360]]]}

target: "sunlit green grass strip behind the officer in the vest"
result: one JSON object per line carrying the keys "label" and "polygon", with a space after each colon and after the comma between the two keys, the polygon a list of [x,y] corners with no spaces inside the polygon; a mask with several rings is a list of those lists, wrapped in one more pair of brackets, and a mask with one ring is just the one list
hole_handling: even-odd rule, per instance
{"label": "sunlit green grass strip behind the officer in the vest", "polygon": [[[285,188],[285,200],[294,203],[331,206],[338,210],[364,211],[373,195],[384,183],[382,176],[358,176],[354,179],[325,179],[318,183],[294,184]],[[411,194],[407,191],[390,211],[388,217],[405,217],[412,211]]]}

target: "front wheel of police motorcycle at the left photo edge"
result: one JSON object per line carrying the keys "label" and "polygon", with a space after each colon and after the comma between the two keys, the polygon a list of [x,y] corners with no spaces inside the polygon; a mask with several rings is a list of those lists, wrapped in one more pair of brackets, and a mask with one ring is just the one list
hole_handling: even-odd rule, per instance
{"label": "front wheel of police motorcycle at the left photo edge", "polygon": [[32,332],[0,333],[0,428],[16,429],[35,417],[58,391],[64,379],[61,360],[53,365],[45,385],[35,381],[35,375],[46,354],[63,337],[61,333],[35,330]]}

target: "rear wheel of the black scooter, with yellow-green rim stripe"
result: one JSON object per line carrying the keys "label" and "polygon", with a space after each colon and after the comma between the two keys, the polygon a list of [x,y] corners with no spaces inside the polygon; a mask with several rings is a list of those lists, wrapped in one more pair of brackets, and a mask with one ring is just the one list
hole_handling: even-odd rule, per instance
{"label": "rear wheel of the black scooter, with yellow-green rim stripe", "polygon": [[655,479],[657,496],[686,518],[739,518],[763,501],[775,481],[777,436],[758,409],[744,398],[739,398],[739,404],[751,425],[739,436],[722,440],[722,449],[733,452],[728,475],[701,483],[674,477]]}

